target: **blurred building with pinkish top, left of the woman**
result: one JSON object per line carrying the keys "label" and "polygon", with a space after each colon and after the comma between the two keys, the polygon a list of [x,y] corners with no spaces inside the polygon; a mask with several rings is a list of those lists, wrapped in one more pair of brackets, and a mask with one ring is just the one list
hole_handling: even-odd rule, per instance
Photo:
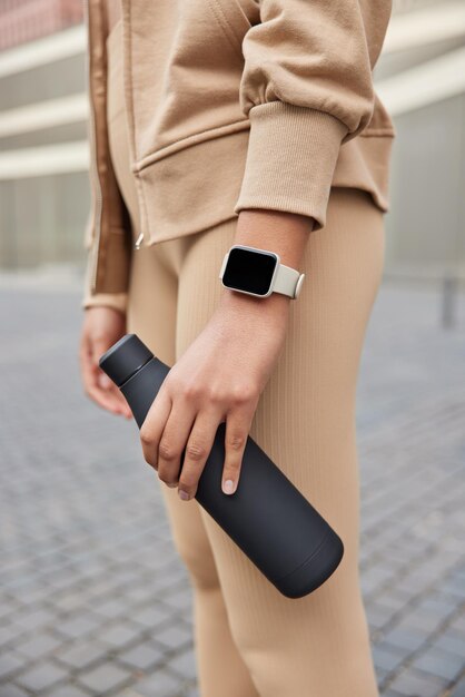
{"label": "blurred building with pinkish top, left of the woman", "polygon": [[[16,46],[12,46],[12,45]],[[81,0],[0,0],[0,263],[82,262],[87,181]]]}

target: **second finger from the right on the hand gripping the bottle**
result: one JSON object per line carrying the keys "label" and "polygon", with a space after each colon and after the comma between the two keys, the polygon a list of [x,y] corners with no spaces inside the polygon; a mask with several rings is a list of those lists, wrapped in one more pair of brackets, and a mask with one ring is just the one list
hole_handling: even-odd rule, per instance
{"label": "second finger from the right on the hand gripping the bottle", "polygon": [[186,444],[179,478],[178,493],[182,501],[188,501],[196,495],[198,481],[214,445],[220,416],[217,410],[202,411],[197,414]]}

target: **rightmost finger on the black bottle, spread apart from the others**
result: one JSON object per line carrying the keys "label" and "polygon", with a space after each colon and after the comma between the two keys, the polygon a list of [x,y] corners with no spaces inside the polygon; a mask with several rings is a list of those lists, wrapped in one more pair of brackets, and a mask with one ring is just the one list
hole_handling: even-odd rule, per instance
{"label": "rightmost finger on the black bottle, spread apart from the others", "polygon": [[254,419],[255,406],[247,405],[230,411],[226,419],[225,465],[221,489],[231,494],[237,490],[247,436]]}

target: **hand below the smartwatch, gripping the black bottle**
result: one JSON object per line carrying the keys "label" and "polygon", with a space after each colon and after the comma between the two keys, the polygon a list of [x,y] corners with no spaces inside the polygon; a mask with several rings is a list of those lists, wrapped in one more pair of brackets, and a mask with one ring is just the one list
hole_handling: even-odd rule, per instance
{"label": "hand below the smartwatch, gripping the black bottle", "polygon": [[221,487],[225,493],[236,491],[257,403],[286,335],[289,303],[276,293],[255,298],[226,289],[207,326],[165,379],[140,440],[145,460],[161,481],[179,487],[182,500],[195,497],[222,421]]}

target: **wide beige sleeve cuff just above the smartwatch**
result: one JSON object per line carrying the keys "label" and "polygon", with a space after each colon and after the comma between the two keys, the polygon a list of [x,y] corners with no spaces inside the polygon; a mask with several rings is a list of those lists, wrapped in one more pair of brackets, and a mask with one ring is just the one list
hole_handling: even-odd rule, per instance
{"label": "wide beige sleeve cuff just above the smartwatch", "polygon": [[269,208],[326,224],[330,186],[347,127],[325,111],[284,101],[249,110],[246,168],[235,213]]}

